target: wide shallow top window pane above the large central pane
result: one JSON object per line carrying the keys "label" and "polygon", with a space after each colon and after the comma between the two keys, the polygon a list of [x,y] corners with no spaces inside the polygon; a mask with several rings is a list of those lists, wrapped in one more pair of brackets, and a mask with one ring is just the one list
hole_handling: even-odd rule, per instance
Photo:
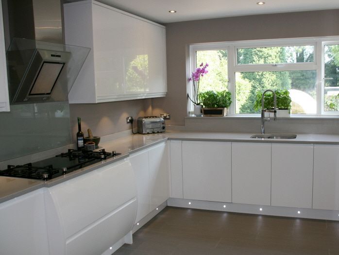
{"label": "wide shallow top window pane above the large central pane", "polygon": [[237,65],[314,62],[314,46],[237,49]]}

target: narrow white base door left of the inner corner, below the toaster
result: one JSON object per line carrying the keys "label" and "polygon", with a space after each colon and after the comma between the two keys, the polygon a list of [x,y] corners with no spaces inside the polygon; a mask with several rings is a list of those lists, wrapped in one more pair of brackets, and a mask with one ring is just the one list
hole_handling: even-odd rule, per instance
{"label": "narrow white base door left of the inner corner, below the toaster", "polygon": [[166,142],[149,149],[151,210],[170,197],[169,151]]}

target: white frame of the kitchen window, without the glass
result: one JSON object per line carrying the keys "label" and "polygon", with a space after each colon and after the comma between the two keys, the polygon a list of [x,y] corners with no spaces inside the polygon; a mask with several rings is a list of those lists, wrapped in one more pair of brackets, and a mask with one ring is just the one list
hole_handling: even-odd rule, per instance
{"label": "white frame of the kitchen window, without the glass", "polygon": [[[251,41],[233,41],[220,43],[206,43],[189,45],[189,67],[187,77],[195,70],[196,51],[207,50],[227,50],[228,67],[228,90],[232,95],[232,104],[228,109],[229,116],[259,116],[258,114],[236,114],[235,113],[235,73],[241,71],[290,71],[290,70],[316,70],[317,72],[317,113],[316,114],[293,114],[294,117],[323,117],[339,116],[339,111],[324,111],[324,45],[339,44],[339,36],[331,37],[307,37],[307,38],[288,38],[273,40],[251,40]],[[273,64],[250,64],[237,65],[237,49],[239,48],[260,48],[260,47],[278,47],[278,46],[314,46],[314,62],[312,63],[287,63],[274,66]],[[188,82],[187,93],[192,95],[192,86]],[[321,92],[319,92],[321,91]],[[193,103],[189,102],[188,109],[193,109]]]}

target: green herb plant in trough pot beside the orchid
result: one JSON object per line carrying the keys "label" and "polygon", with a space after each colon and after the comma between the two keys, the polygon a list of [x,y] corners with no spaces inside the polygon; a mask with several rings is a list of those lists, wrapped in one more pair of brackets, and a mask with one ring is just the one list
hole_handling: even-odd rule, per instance
{"label": "green herb plant in trough pot beside the orchid", "polygon": [[214,92],[212,90],[200,93],[203,103],[203,116],[226,116],[228,107],[232,103],[231,92],[222,90]]}

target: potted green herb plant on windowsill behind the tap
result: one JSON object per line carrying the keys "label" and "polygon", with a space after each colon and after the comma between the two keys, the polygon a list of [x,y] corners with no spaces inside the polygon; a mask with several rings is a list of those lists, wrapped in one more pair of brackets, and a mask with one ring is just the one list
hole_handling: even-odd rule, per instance
{"label": "potted green herb plant on windowsill behind the tap", "polygon": [[[277,98],[277,117],[289,117],[291,110],[291,98],[287,89],[277,89],[274,91]],[[254,102],[254,109],[261,109],[261,97],[262,92],[256,94],[256,100]],[[274,98],[272,93],[266,93],[264,96],[264,108],[274,108]]]}

